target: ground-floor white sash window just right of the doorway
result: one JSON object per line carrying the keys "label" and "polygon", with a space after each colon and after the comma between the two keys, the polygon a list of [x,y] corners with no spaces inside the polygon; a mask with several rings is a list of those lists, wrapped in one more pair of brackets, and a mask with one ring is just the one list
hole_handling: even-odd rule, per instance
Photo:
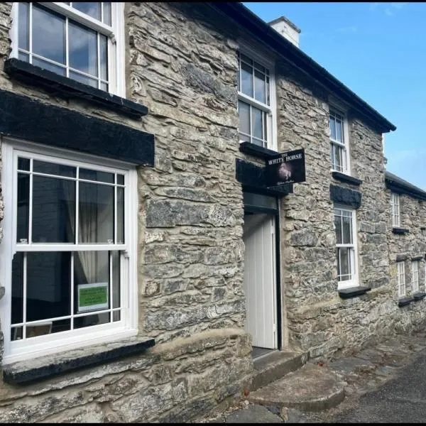
{"label": "ground-floor white sash window just right of the doorway", "polygon": [[356,253],[355,211],[334,207],[334,226],[336,229],[336,258],[338,288],[359,285]]}

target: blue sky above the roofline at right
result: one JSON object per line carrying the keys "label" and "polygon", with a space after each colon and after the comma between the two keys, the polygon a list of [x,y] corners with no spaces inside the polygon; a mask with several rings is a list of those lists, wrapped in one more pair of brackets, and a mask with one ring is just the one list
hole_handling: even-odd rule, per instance
{"label": "blue sky above the roofline at right", "polygon": [[386,168],[426,190],[426,3],[244,5],[290,19],[300,48],[395,124]]}

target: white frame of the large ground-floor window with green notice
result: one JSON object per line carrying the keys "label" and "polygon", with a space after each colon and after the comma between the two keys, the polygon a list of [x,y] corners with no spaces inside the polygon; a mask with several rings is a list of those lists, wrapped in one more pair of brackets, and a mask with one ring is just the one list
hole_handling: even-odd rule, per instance
{"label": "white frame of the large ground-floor window with green notice", "polygon": [[[121,320],[99,324],[92,327],[84,327],[72,331],[45,334],[31,337],[28,340],[11,341],[11,263],[13,253],[16,251],[16,200],[17,200],[17,158],[18,154],[31,154],[33,158],[40,160],[50,158],[57,163],[65,165],[81,165],[82,167],[95,168],[112,173],[125,175],[125,244],[115,244],[114,248],[121,250]],[[62,351],[81,348],[93,344],[113,342],[136,336],[138,333],[138,288],[137,288],[137,235],[138,229],[138,197],[137,197],[137,173],[134,165],[119,161],[99,158],[94,155],[76,153],[57,148],[46,148],[28,141],[13,138],[1,139],[1,155],[3,169],[2,182],[11,182],[4,185],[4,220],[3,239],[0,244],[0,279],[4,283],[6,293],[0,300],[1,327],[4,332],[4,357],[3,364],[15,361],[32,359],[37,356],[56,354]],[[70,250],[66,244],[28,244],[28,251],[57,251]],[[35,247],[38,246],[38,247]],[[105,248],[102,244],[87,244],[85,249],[97,250]],[[75,245],[78,247],[78,245]],[[27,250],[26,250],[27,251]],[[27,252],[28,252],[27,251]],[[45,320],[45,321],[49,321]]]}

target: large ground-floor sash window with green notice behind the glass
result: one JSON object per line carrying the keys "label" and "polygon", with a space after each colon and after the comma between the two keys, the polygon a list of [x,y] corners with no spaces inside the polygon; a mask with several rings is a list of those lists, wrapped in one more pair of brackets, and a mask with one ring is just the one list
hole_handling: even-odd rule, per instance
{"label": "large ground-floor sash window with green notice behind the glass", "polygon": [[34,147],[2,147],[6,363],[136,334],[136,171]]}

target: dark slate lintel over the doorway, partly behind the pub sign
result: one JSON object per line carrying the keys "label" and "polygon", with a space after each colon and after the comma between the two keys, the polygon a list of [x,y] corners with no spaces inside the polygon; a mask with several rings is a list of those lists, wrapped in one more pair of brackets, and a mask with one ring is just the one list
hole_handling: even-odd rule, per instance
{"label": "dark slate lintel over the doorway, partly behind the pub sign", "polygon": [[245,191],[258,194],[270,195],[271,197],[284,197],[293,193],[293,184],[266,186],[265,168],[249,161],[236,158],[236,180],[238,180]]}

